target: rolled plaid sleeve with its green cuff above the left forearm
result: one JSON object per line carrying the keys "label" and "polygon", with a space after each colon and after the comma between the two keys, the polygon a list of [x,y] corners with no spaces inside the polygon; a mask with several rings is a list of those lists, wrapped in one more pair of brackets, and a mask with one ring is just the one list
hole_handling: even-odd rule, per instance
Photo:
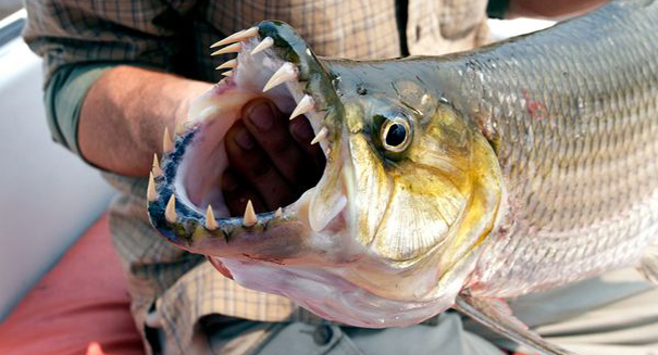
{"label": "rolled plaid sleeve with its green cuff above the left forearm", "polygon": [[23,37],[44,58],[44,99],[53,140],[82,156],[77,127],[83,102],[94,83],[113,66],[174,71],[194,1],[167,1],[25,2]]}

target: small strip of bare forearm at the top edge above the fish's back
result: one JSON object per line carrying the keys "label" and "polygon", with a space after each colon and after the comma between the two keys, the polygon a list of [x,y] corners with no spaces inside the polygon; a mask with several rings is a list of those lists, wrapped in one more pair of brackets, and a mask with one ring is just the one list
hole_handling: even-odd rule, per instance
{"label": "small strip of bare forearm at the top edge above the fish's back", "polygon": [[596,9],[609,0],[510,0],[508,18],[554,18],[574,16]]}

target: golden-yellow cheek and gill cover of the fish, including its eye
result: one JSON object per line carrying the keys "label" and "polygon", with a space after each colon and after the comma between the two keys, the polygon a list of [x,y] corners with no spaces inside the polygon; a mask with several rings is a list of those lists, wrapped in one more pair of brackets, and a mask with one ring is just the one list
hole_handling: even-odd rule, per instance
{"label": "golden-yellow cheek and gill cover of the fish, including its eye", "polygon": [[[504,193],[498,162],[452,103],[412,81],[390,88],[342,98],[355,238],[395,272],[432,268],[440,279],[495,225]],[[372,292],[399,299],[415,292],[413,284],[400,286],[414,278],[372,270],[357,277]]]}

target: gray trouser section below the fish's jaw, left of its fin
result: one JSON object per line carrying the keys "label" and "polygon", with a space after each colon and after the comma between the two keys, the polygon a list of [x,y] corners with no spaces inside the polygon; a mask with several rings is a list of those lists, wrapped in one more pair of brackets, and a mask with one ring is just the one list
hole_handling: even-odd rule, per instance
{"label": "gray trouser section below the fish's jaw, left of its fin", "polygon": [[[232,327],[211,332],[209,347],[212,354],[505,354],[479,335],[463,331],[457,313],[442,314],[437,325],[389,329],[313,326],[302,322],[247,324],[251,325],[234,325],[243,328],[237,332]],[[243,337],[254,339],[245,341]],[[251,346],[246,346],[248,343],[251,343]]]}

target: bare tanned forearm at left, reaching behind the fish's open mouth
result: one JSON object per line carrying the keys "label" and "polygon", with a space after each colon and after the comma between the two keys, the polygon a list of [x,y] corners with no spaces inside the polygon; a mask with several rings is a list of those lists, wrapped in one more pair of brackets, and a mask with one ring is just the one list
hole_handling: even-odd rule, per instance
{"label": "bare tanned forearm at left, reaching behind the fish's open mouth", "polygon": [[82,155],[104,169],[145,176],[162,152],[164,127],[183,119],[211,84],[135,66],[117,66],[89,89],[77,131]]}

